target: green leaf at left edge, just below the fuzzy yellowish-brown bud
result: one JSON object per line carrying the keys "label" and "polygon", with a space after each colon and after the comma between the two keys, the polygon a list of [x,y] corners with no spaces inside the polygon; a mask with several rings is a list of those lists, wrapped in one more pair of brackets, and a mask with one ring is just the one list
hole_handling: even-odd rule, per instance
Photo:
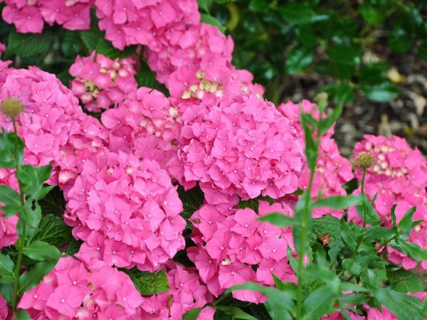
{"label": "green leaf at left edge, just below the fuzzy yellowish-brown bud", "polygon": [[16,168],[23,161],[23,148],[25,145],[14,132],[2,129],[0,137],[0,168]]}

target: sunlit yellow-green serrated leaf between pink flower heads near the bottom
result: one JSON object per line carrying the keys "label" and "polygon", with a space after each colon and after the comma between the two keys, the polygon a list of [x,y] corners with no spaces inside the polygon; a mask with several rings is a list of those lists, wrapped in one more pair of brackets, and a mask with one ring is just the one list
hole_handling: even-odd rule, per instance
{"label": "sunlit yellow-green serrated leaf between pink flower heads near the bottom", "polygon": [[135,288],[143,296],[151,296],[159,292],[167,292],[169,283],[167,281],[167,274],[163,270],[157,272],[140,271],[137,268],[131,270],[122,269],[121,271],[129,275],[132,282],[135,284]]}

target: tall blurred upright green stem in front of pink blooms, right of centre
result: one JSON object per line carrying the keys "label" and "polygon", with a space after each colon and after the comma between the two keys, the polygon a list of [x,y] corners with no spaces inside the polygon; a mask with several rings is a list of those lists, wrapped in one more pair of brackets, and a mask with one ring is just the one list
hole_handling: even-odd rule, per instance
{"label": "tall blurred upright green stem in front of pink blooms, right of centre", "polygon": [[[320,138],[317,138],[316,141],[316,150],[319,146]],[[297,283],[297,319],[302,319],[302,287],[304,280],[302,279],[302,272],[304,270],[304,256],[305,256],[305,245],[307,242],[307,225],[310,220],[310,197],[312,191],[312,185],[315,178],[316,169],[310,170],[310,180],[305,191],[307,199],[304,204],[304,219],[302,220],[301,225],[301,242],[300,242],[300,252],[298,252],[298,283]]]}

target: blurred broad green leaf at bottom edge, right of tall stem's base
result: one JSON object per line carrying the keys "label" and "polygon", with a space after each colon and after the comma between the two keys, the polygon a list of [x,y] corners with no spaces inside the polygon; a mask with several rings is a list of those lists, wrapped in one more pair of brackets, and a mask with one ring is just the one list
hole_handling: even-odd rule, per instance
{"label": "blurred broad green leaf at bottom edge, right of tall stem's base", "polygon": [[316,289],[302,304],[302,318],[317,320],[323,315],[329,314],[337,296],[337,292],[334,292],[330,286],[326,285]]}

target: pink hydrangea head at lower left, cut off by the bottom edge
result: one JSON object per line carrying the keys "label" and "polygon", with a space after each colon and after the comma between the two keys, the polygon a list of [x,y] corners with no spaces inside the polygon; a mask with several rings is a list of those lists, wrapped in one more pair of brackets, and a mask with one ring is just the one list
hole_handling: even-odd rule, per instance
{"label": "pink hydrangea head at lower left, cut off by the bottom edge", "polygon": [[62,257],[18,304],[31,319],[135,319],[142,297],[127,274]]}

